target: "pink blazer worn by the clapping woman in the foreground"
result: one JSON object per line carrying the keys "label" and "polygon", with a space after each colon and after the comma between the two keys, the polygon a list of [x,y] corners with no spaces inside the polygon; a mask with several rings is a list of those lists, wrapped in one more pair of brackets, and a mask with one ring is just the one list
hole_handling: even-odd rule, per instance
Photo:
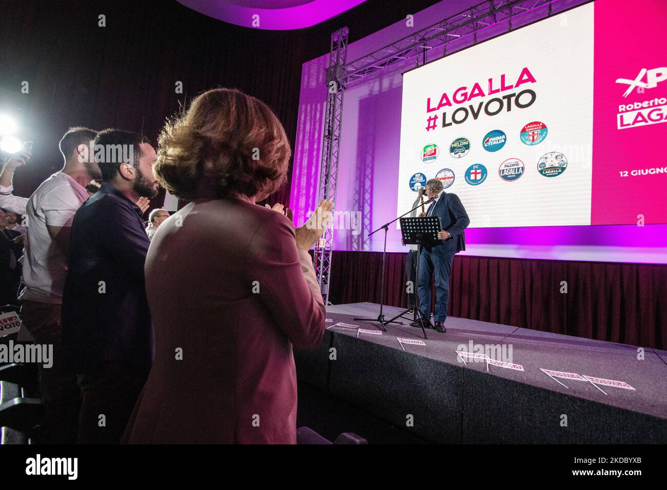
{"label": "pink blazer worn by the clapping woman in the foreground", "polygon": [[325,307],[287,217],[201,199],[157,230],[145,265],[155,360],[125,443],[295,443],[292,345]]}

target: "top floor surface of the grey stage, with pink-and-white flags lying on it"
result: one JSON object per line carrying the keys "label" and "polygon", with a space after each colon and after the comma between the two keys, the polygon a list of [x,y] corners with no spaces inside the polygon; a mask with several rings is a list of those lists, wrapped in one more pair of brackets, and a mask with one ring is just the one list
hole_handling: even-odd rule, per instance
{"label": "top floor surface of the grey stage, with pink-and-white flags lying on it", "polygon": [[[390,319],[402,311],[396,307],[384,307],[385,318]],[[333,323],[343,321],[359,324],[365,329],[378,329],[378,323],[355,322],[353,317],[377,317],[380,305],[374,303],[352,303],[333,305],[327,309]],[[396,337],[422,339],[422,330],[410,327],[410,322],[398,319],[404,325],[390,325],[382,335],[360,334],[364,341],[386,345],[394,349],[402,347]],[[332,323],[327,323],[327,327]],[[522,365],[524,371],[489,366],[489,375],[500,376],[520,383],[561,391],[568,395],[601,401],[608,405],[631,409],[667,419],[667,351],[644,348],[644,359],[638,359],[640,346],[623,345],[557,333],[449,317],[447,333],[426,331],[426,345],[404,345],[406,351],[438,359],[445,363],[464,365],[456,354],[458,345],[512,345],[512,362]],[[356,337],[355,329],[333,327],[337,333]],[[330,329],[329,329],[330,330]],[[509,353],[509,347],[506,353]],[[486,372],[486,363],[466,359],[465,367]],[[623,389],[599,385],[605,395],[589,381],[557,378],[567,386],[560,385],[540,371],[564,371],[590,377],[625,381],[634,388]]]}

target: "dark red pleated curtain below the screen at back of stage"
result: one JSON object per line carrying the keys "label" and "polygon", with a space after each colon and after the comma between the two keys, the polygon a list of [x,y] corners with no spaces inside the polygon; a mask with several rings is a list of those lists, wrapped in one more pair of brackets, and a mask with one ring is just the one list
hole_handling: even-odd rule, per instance
{"label": "dark red pleated curtain below the screen at back of stage", "polygon": [[[406,254],[386,255],[386,302],[406,307]],[[382,253],[335,251],[332,303],[380,302]],[[435,294],[435,293],[434,293]],[[667,265],[456,255],[448,314],[666,349]]]}

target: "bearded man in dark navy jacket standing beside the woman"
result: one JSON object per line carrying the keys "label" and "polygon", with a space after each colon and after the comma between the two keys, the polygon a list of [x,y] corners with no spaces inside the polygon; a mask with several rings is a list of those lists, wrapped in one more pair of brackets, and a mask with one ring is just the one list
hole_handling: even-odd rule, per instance
{"label": "bearded man in dark navy jacket standing beside the woman", "polygon": [[79,443],[119,443],[151,367],[143,276],[150,241],[135,203],[157,195],[156,159],[146,137],[101,131],[95,162],[102,184],[72,223],[63,350],[83,395]]}

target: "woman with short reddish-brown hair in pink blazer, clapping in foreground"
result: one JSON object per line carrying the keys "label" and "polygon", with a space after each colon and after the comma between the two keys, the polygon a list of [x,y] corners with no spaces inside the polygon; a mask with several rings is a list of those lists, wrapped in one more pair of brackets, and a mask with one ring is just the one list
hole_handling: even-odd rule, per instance
{"label": "woman with short reddish-brown hair in pink blazer, clapping in foreground", "polygon": [[255,204],[283,184],[290,156],[271,109],[237,90],[199,95],[163,129],[155,176],[191,202],[148,251],[155,359],[123,441],[296,442],[292,345],[323,335],[308,250],[332,206],[295,229],[291,211]]}

